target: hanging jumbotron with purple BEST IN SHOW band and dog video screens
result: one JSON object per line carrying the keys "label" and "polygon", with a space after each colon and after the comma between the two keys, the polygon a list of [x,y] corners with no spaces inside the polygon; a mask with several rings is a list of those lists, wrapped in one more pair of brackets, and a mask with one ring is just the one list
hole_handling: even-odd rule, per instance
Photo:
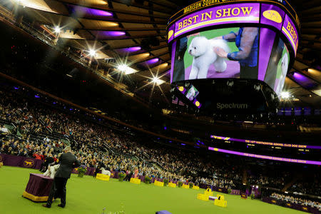
{"label": "hanging jumbotron with purple BEST IN SHOW band and dog video screens", "polygon": [[279,95],[299,24],[287,1],[198,1],[168,24],[170,81],[254,79]]}

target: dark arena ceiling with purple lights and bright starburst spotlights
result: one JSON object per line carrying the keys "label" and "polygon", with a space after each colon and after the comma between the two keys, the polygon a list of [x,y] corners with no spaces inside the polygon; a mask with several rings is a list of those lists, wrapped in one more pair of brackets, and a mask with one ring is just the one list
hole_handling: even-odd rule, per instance
{"label": "dark arena ceiling with purple lights and bright starburst spotlights", "polygon": [[[147,101],[170,102],[166,24],[175,11],[193,1],[6,1],[22,7],[24,16],[58,36],[58,44],[92,58],[94,65],[98,63],[98,75],[120,81],[125,91]],[[287,75],[285,91],[290,91],[302,103],[320,106],[321,1],[294,0],[292,6],[302,29],[297,58]],[[296,78],[297,75],[302,78]]]}

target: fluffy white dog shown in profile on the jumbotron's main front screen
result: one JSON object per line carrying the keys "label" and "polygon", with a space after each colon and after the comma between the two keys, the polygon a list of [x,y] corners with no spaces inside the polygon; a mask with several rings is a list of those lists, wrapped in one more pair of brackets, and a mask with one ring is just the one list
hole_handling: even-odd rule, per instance
{"label": "fluffy white dog shown in profile on the jumbotron's main front screen", "polygon": [[220,47],[227,53],[230,52],[228,44],[223,39],[206,39],[204,36],[195,37],[188,47],[188,54],[194,56],[189,79],[207,78],[210,64],[214,64],[216,72],[226,70],[226,62],[215,54],[213,48]]}

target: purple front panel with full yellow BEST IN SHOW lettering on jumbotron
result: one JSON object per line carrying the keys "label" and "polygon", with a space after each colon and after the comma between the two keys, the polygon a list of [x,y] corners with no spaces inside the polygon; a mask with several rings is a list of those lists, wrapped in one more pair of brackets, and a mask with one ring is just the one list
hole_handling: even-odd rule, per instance
{"label": "purple front panel with full yellow BEST IN SHOW lettering on jumbotron", "polygon": [[[208,16],[206,16],[208,15]],[[174,38],[195,29],[206,26],[258,23],[260,19],[260,4],[228,4],[195,12],[175,22]]]}

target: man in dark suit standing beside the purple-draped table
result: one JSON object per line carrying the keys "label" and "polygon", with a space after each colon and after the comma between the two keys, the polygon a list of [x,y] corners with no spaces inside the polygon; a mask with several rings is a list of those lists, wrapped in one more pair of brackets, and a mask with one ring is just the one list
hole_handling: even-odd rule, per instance
{"label": "man in dark suit standing beside the purple-draped table", "polygon": [[70,178],[73,168],[80,165],[79,161],[76,159],[72,153],[63,153],[59,158],[60,167],[58,168],[54,183],[51,187],[49,193],[49,198],[47,200],[47,207],[51,207],[53,198],[61,198],[61,207],[66,205],[66,183],[68,178]]}

